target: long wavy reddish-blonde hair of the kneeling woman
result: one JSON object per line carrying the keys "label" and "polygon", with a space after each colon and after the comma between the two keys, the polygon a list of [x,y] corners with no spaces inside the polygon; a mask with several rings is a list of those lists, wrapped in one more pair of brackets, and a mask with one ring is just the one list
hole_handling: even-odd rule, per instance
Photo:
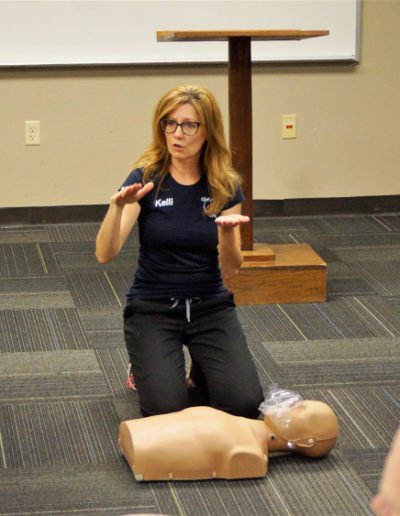
{"label": "long wavy reddish-blonde hair of the kneeling woman", "polygon": [[158,102],[153,115],[153,141],[134,163],[143,169],[143,182],[157,180],[157,193],[171,164],[160,121],[181,104],[192,104],[204,128],[205,143],[201,154],[212,203],[207,215],[218,214],[234,196],[240,184],[239,174],[232,168],[231,153],[225,141],[222,115],[214,95],[204,86],[179,86],[167,92]]}

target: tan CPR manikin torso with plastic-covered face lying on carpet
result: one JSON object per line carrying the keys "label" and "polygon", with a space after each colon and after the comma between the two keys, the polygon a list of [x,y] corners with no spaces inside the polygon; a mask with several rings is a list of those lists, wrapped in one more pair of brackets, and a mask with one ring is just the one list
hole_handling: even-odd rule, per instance
{"label": "tan CPR manikin torso with plastic-covered face lying on carpet", "polygon": [[260,411],[263,421],[210,407],[124,421],[119,445],[138,481],[263,477],[268,451],[322,457],[335,445],[326,403],[271,386]]}

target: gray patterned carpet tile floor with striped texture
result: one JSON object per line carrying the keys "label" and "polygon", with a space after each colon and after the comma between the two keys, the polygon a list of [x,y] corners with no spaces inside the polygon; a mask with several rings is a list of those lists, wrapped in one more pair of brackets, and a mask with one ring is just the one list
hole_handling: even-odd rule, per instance
{"label": "gray patterned carpet tile floor with striped texture", "polygon": [[341,433],[324,459],[276,454],[241,481],[134,480],[117,434],[140,416],[122,334],[138,241],[97,264],[98,227],[0,228],[0,515],[371,514],[400,424],[400,215],[254,221],[255,241],[328,263],[325,303],[238,307],[263,387],[327,402]]}

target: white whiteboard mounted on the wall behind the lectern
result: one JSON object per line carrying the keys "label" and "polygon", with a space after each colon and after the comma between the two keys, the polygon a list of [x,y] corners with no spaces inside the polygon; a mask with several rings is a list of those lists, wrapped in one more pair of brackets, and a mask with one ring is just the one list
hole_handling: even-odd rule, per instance
{"label": "white whiteboard mounted on the wall behind the lectern", "polygon": [[157,30],[329,30],[252,43],[253,61],[359,60],[361,0],[0,0],[0,66],[219,63],[226,42],[156,40]]}

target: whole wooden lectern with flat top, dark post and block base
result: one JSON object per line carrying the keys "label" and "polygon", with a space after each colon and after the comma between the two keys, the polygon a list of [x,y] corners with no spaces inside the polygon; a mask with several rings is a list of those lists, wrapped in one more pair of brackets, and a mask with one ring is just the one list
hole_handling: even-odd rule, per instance
{"label": "whole wooden lectern with flat top, dark post and block base", "polygon": [[241,227],[243,265],[227,287],[237,304],[300,303],[326,300],[326,263],[307,244],[253,244],[251,41],[301,40],[326,30],[158,31],[158,41],[228,41],[229,142],[232,164],[243,177]]}

